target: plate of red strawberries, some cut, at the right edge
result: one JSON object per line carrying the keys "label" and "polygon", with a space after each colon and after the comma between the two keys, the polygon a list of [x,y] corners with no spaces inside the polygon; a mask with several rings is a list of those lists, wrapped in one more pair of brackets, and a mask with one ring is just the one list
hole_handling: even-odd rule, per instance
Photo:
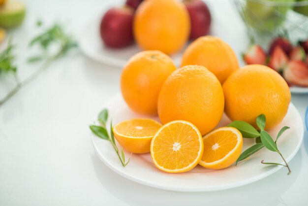
{"label": "plate of red strawberries, some cut, at the right edge", "polygon": [[308,93],[308,39],[292,44],[286,37],[272,40],[268,50],[251,44],[243,54],[244,62],[262,64],[276,70],[288,83],[293,94]]}

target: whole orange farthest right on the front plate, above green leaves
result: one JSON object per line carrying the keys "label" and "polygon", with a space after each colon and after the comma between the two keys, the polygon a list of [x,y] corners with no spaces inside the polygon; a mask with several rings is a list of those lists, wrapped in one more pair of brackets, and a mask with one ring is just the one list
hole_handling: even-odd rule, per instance
{"label": "whole orange farthest right on the front plate, above green leaves", "polygon": [[248,65],[232,73],[224,82],[225,112],[231,120],[242,120],[256,127],[260,114],[266,129],[279,124],[286,115],[291,94],[285,80],[273,69]]}

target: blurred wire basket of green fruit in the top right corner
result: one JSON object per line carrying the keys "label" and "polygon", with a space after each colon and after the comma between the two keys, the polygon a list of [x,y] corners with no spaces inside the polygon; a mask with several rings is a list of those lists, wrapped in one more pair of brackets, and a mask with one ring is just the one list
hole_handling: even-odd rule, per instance
{"label": "blurred wire basket of green fruit in the top right corner", "polygon": [[308,0],[235,0],[248,29],[254,33],[307,32]]}

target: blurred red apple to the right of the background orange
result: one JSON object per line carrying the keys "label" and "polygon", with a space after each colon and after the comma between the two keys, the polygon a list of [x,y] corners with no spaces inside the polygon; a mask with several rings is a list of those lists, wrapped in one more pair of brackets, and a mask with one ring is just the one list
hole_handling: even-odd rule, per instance
{"label": "blurred red apple to the right of the background orange", "polygon": [[211,13],[202,0],[183,0],[190,17],[190,39],[209,34],[211,27]]}

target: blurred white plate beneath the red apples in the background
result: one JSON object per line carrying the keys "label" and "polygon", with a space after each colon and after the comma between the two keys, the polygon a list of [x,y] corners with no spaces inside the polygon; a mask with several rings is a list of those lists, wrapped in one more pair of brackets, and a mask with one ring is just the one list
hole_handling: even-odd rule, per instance
{"label": "blurred white plate beneath the red apples in the background", "polygon": [[[77,35],[79,47],[81,51],[92,60],[123,68],[128,59],[141,50],[136,44],[120,49],[106,47],[99,35],[100,19],[101,16],[93,17],[92,20],[82,27],[82,30],[80,30]],[[176,66],[180,66],[181,57],[182,53],[172,56]]]}

